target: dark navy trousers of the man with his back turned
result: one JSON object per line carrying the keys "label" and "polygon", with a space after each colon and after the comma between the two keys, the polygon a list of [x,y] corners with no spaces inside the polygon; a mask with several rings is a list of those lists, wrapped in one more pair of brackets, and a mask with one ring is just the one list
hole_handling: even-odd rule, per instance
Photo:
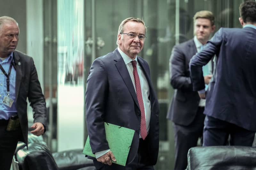
{"label": "dark navy trousers of the man with his back turned", "polygon": [[211,116],[205,117],[203,146],[226,145],[229,135],[230,145],[252,146],[255,132]]}

